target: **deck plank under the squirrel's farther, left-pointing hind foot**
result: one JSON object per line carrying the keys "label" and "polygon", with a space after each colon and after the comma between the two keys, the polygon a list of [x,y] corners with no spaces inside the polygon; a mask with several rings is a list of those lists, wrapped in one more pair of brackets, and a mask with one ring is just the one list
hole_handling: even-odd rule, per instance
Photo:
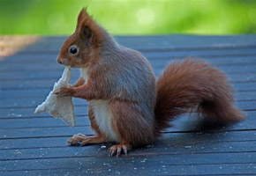
{"label": "deck plank under the squirrel's farther, left-pointing hind foot", "polygon": [[[80,131],[82,133],[82,131]],[[2,139],[0,143],[0,150],[22,150],[22,149],[44,149],[44,148],[58,148],[58,147],[69,147],[66,144],[66,141],[69,136],[55,136],[55,137],[38,137],[38,138],[17,138],[17,139]],[[201,132],[188,132],[188,133],[164,133],[162,137],[158,138],[158,140],[150,146],[151,149],[154,147],[162,148],[162,143],[169,144],[169,147],[179,145],[181,150],[186,146],[193,146],[195,144],[201,144],[201,151],[204,151],[205,148],[211,148],[210,146],[216,145],[219,143],[226,142],[253,142],[256,139],[256,132],[253,130],[242,130],[242,131],[201,131]],[[208,144],[209,143],[209,144]],[[103,144],[106,145],[107,143]],[[230,145],[230,144],[229,144]],[[227,145],[227,146],[229,146]],[[85,150],[98,150],[102,144],[98,145],[89,145],[85,147]],[[224,148],[225,146],[222,145]],[[237,145],[237,148],[239,145]],[[252,147],[252,145],[248,145],[247,147]],[[194,147],[191,147],[194,148]],[[226,148],[226,147],[225,147]],[[144,149],[144,148],[143,148]],[[185,149],[190,149],[190,147],[186,147]],[[231,151],[232,148],[230,148]],[[249,148],[245,148],[250,150]],[[251,149],[251,150],[252,150]],[[146,149],[144,149],[146,150]],[[200,150],[200,148],[198,149]],[[213,150],[215,150],[213,148]],[[240,148],[240,150],[242,150]],[[136,150],[135,150],[136,151]],[[217,151],[217,150],[215,150]]]}

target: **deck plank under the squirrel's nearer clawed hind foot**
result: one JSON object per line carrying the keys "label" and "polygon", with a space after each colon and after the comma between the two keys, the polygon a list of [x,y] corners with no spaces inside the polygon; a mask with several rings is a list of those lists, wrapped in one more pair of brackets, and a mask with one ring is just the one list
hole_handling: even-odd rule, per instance
{"label": "deck plank under the squirrel's nearer clawed hind foot", "polygon": [[[130,155],[151,155],[154,153],[175,155],[175,154],[207,154],[207,153],[254,153],[256,141],[245,142],[222,142],[216,143],[208,141],[205,143],[177,143],[171,144],[158,141],[154,145],[145,148],[131,150]],[[84,146],[62,146],[51,148],[20,149],[20,150],[0,150],[0,160],[25,160],[43,158],[80,158],[96,157],[103,155],[101,151],[106,151],[111,143]],[[203,150],[202,150],[203,149]],[[64,152],[63,152],[64,151]]]}

